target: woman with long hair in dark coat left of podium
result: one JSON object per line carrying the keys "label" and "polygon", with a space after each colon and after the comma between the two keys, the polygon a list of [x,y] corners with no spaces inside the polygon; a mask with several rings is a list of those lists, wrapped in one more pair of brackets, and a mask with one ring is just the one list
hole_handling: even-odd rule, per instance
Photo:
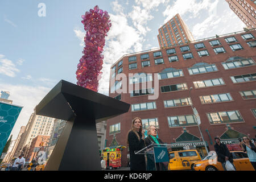
{"label": "woman with long hair in dark coat left of podium", "polygon": [[145,156],[143,154],[135,154],[145,147],[142,133],[141,118],[134,118],[131,130],[128,133],[127,143],[130,151],[130,169],[131,171],[146,171]]}

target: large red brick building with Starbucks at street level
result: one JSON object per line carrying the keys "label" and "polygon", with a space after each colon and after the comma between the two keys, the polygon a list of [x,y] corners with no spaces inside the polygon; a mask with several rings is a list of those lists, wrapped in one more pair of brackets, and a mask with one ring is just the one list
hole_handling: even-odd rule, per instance
{"label": "large red brick building with Starbucks at street level", "polygon": [[[229,147],[245,135],[254,138],[255,37],[254,29],[121,57],[112,65],[109,96],[131,107],[127,113],[108,119],[106,146],[113,143],[127,146],[131,121],[140,117],[143,129],[155,125],[159,138],[171,144],[172,150],[189,147],[196,148],[202,156],[207,155],[192,104],[199,113],[208,151],[214,150],[216,136]],[[118,73],[127,77],[129,73],[138,73],[141,77],[119,81],[112,77]],[[150,89],[146,90],[145,85],[142,88],[143,84],[150,85]],[[123,90],[125,86],[129,90]],[[149,100],[148,96],[158,90],[158,98]],[[125,148],[123,166],[127,164],[127,154]]]}

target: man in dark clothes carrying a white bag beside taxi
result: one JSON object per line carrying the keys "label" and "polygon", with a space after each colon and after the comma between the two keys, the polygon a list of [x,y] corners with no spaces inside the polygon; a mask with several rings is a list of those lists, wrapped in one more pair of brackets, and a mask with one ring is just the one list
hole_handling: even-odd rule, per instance
{"label": "man in dark clothes carrying a white bag beside taxi", "polygon": [[222,164],[222,167],[224,168],[224,171],[227,171],[226,169],[226,162],[230,162],[234,169],[236,170],[236,167],[233,164],[233,156],[230,154],[228,147],[224,143],[220,142],[220,138],[215,137],[214,138],[216,144],[214,144],[214,150],[217,153],[218,156],[218,162]]}

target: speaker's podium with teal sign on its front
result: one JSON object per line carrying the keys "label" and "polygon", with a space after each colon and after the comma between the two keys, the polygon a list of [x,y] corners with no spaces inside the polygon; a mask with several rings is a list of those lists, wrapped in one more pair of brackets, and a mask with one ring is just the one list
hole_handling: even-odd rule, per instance
{"label": "speaker's podium with teal sign on its front", "polygon": [[[142,148],[142,150],[135,151],[137,155],[145,155],[147,158],[146,165],[154,164],[155,170],[160,166],[160,163],[169,162],[169,153],[168,151],[172,147],[171,144],[155,144],[151,143],[149,146]],[[147,166],[147,169],[152,168]]]}

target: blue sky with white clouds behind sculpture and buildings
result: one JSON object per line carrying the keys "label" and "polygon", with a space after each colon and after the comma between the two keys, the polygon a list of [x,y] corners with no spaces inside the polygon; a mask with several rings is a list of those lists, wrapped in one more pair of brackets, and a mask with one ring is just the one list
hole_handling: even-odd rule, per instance
{"label": "blue sky with white clouds behind sculpture and buildings", "polygon": [[245,27],[224,0],[1,0],[0,92],[9,91],[9,100],[23,106],[13,139],[53,86],[76,84],[85,36],[81,15],[96,5],[112,21],[98,89],[107,96],[111,65],[127,53],[158,48],[158,28],[175,14],[196,40]]}

